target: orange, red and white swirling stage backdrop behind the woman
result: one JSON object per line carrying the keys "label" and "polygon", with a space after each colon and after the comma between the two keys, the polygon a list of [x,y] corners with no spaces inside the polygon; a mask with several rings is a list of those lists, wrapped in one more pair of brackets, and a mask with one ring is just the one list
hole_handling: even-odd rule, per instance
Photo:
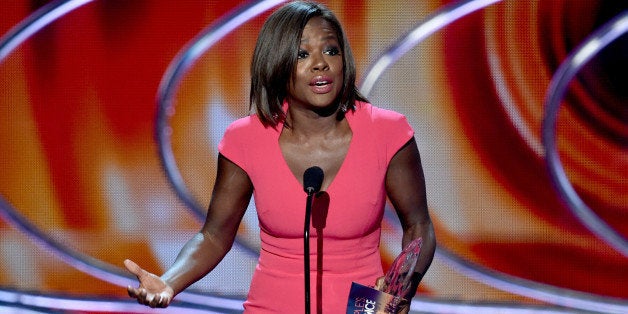
{"label": "orange, red and white swirling stage backdrop behind the woman", "polygon": [[[579,71],[552,129],[567,185],[602,230],[561,196],[542,141],[555,71],[626,3],[494,2],[416,40],[455,3],[324,1],[369,100],[416,131],[439,245],[419,295],[539,303],[524,288],[554,287],[626,299],[626,252],[604,237],[625,246],[628,235],[626,36]],[[3,2],[0,34],[46,4]],[[172,263],[201,225],[218,141],[249,112],[249,63],[270,12],[238,15],[250,5],[91,1],[2,56],[0,287],[123,297],[124,259],[156,273]],[[216,42],[186,50],[203,32]],[[378,72],[382,57],[394,62]],[[401,250],[392,210],[383,230],[387,266]],[[191,289],[244,297],[258,249],[251,205],[233,250]]]}

